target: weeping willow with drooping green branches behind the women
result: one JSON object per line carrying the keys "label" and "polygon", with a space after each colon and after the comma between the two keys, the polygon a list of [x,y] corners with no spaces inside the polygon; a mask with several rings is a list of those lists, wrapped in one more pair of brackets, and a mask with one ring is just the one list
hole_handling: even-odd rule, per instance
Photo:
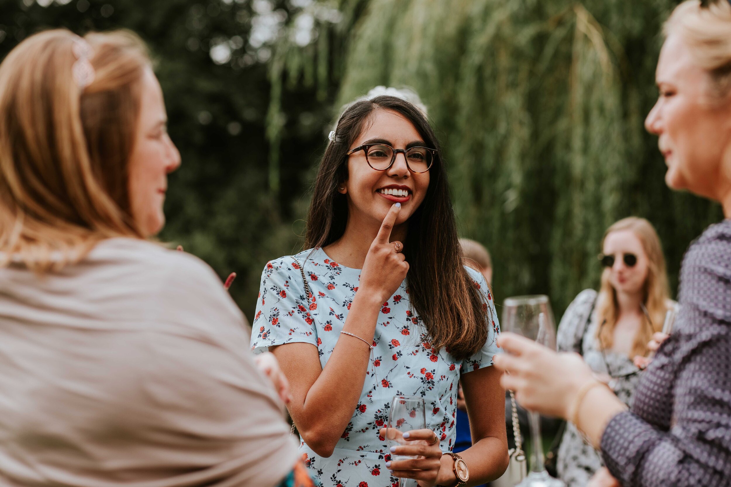
{"label": "weeping willow with drooping green branches behind the women", "polygon": [[311,45],[287,35],[277,45],[272,161],[288,85],[312,85],[333,115],[375,85],[409,86],[442,139],[462,234],[493,253],[499,297],[547,293],[561,312],[598,285],[602,235],[628,215],[658,229],[675,286],[689,242],[721,218],[716,205],[665,187],[656,139],[643,130],[675,4],[315,2],[303,15],[336,8],[341,18],[318,22]]}

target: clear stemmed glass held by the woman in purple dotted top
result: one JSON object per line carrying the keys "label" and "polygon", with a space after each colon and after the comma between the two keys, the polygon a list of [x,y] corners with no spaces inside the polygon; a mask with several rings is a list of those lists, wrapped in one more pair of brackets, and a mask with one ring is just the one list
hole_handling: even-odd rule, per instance
{"label": "clear stemmed glass held by the woman in purple dotted top", "polygon": [[[548,296],[515,296],[505,299],[500,322],[503,331],[510,331],[535,340],[556,350],[556,325]],[[529,411],[531,427],[531,472],[517,487],[566,487],[566,484],[548,475],[543,459],[540,416]]]}

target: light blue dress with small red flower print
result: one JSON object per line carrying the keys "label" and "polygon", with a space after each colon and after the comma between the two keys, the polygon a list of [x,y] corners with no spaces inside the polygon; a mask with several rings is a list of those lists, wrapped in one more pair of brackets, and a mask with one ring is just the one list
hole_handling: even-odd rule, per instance
{"label": "light blue dress with small red flower print", "polygon": [[[296,258],[296,261],[295,261]],[[311,296],[298,263],[303,265]],[[426,404],[427,427],[439,436],[442,451],[452,450],[458,380],[462,373],[492,365],[498,353],[499,324],[484,277],[466,268],[485,299],[491,330],[485,346],[474,356],[457,360],[446,350],[434,350],[420,318],[409,306],[406,280],[381,307],[373,338],[374,350],[360,401],[335,451],[329,458],[314,453],[300,439],[300,452],[311,475],[325,487],[392,487],[388,444],[379,429],[388,421],[395,395],[421,396]],[[444,277],[448,279],[448,276]],[[341,266],[321,249],[270,261],[262,283],[251,334],[251,349],[261,353],[273,345],[305,342],[317,346],[325,367],[341,337],[345,318],[360,280],[360,269]],[[364,337],[368,340],[368,337]],[[354,377],[354,380],[356,377]],[[322,404],[327,415],[327,404]]]}

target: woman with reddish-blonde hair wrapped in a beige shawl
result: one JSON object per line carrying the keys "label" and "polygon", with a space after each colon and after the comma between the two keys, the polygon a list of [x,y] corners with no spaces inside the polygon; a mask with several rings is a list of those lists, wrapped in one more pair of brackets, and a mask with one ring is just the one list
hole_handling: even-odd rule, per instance
{"label": "woman with reddish-blonde hair wrapped in a beige shawl", "polygon": [[311,485],[219,278],[147,240],[166,122],[133,34],[46,31],[0,64],[3,486]]}

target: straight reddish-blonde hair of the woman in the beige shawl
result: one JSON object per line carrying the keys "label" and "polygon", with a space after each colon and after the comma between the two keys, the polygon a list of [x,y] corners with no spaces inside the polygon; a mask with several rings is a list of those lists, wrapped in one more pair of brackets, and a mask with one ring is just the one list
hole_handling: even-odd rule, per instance
{"label": "straight reddish-blonde hair of the woman in the beige shawl", "polygon": [[91,84],[72,74],[80,37],[35,34],[0,64],[0,265],[60,269],[109,237],[144,238],[127,164],[145,68],[135,34],[92,33]]}

